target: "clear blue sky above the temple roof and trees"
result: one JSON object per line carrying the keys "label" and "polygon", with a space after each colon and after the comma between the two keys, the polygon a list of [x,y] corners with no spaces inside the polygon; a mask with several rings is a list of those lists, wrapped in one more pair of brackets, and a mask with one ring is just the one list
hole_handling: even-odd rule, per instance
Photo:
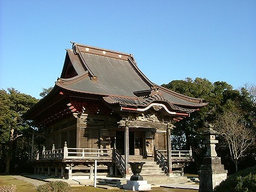
{"label": "clear blue sky above the temple roof and trees", "polygon": [[0,88],[40,98],[70,41],[132,53],[162,85],[256,84],[256,1],[0,1]]}

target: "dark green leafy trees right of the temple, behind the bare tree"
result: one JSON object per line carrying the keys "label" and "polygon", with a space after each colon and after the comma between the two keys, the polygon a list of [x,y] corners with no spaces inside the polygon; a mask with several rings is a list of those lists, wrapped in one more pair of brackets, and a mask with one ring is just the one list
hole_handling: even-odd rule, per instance
{"label": "dark green leafy trees right of the temple, behind the bare tree", "polygon": [[[226,110],[239,110],[245,119],[246,127],[255,131],[255,86],[250,86],[249,88],[245,86],[240,88],[240,90],[234,90],[227,82],[218,81],[211,83],[207,79],[198,77],[195,80],[191,78],[173,80],[162,86],[189,97],[202,98],[208,103],[200,111],[192,113],[189,118],[176,122],[175,128],[172,131],[172,146],[180,150],[187,150],[189,146],[192,146],[197,166],[200,166],[202,157],[204,157],[205,149],[201,133],[206,130],[205,124],[207,122],[214,124],[216,119],[224,114]],[[223,137],[218,139],[220,144],[224,143]],[[217,150],[218,148],[220,147],[217,146]],[[221,157],[224,156],[225,160],[228,161],[231,159],[230,157],[228,159],[227,151],[229,151],[228,146],[222,147],[218,154]],[[254,153],[255,149],[251,152],[252,156]],[[196,166],[194,167],[196,168]],[[196,171],[194,169],[194,172]]]}

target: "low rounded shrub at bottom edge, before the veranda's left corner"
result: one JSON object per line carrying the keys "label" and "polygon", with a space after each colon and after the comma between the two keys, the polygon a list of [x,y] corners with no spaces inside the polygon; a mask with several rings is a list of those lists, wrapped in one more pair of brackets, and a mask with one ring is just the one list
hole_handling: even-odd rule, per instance
{"label": "low rounded shrub at bottom edge, before the veranda's left corner", "polygon": [[64,181],[51,181],[37,187],[38,192],[68,192],[70,185]]}

